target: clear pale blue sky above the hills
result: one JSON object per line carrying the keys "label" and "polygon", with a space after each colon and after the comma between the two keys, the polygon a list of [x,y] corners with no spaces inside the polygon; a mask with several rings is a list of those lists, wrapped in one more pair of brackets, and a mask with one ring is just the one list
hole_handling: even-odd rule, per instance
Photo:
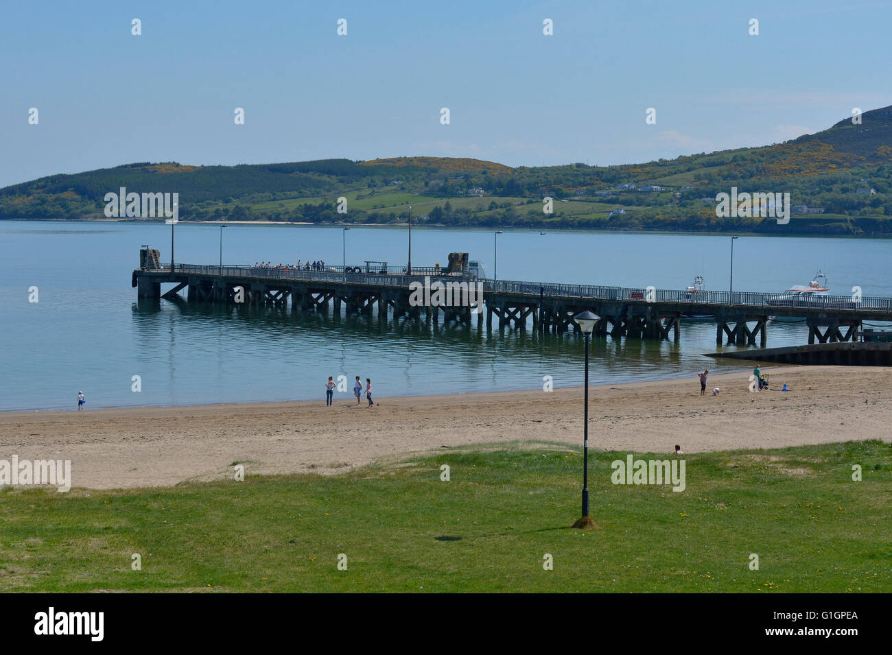
{"label": "clear pale blue sky above the hills", "polygon": [[[779,143],[853,107],[892,104],[892,3],[870,0],[153,0],[0,11],[0,186],[147,160],[631,163]],[[134,18],[142,36],[131,35]],[[648,107],[656,125],[645,124]]]}

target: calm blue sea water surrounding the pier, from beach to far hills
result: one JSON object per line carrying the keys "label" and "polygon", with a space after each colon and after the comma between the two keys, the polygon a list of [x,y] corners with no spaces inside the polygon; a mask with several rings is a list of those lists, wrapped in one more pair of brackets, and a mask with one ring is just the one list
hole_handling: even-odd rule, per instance
{"label": "calm blue sea water surrounding the pier, from beach to far hills", "polygon": [[[322,258],[340,264],[343,231],[310,225],[229,225],[223,261],[294,263]],[[366,259],[404,265],[403,227],[353,227],[348,264]],[[417,229],[412,262],[445,265],[451,251],[469,252],[489,274],[499,240],[498,277],[508,280],[653,285],[681,289],[704,274],[706,288],[725,290],[727,236],[635,233],[512,232]],[[219,262],[218,225],[177,226],[183,263]],[[487,332],[424,323],[380,325],[331,315],[275,310],[188,307],[136,302],[130,286],[141,244],[169,260],[170,229],[158,224],[0,221],[0,410],[74,408],[78,390],[91,408],[193,405],[287,399],[320,400],[329,375],[373,381],[376,397],[541,389],[582,382],[582,340],[575,335]],[[831,292],[853,286],[892,295],[892,241],[740,237],[734,245],[737,291],[782,291],[822,268]],[[38,302],[29,302],[37,287]],[[681,341],[596,339],[591,381],[615,383],[748,368],[716,361],[711,321],[681,325]],[[805,343],[802,324],[768,327],[768,345]],[[728,347],[733,348],[733,347]],[[134,375],[142,390],[132,390]],[[348,399],[341,394],[336,399]]]}

